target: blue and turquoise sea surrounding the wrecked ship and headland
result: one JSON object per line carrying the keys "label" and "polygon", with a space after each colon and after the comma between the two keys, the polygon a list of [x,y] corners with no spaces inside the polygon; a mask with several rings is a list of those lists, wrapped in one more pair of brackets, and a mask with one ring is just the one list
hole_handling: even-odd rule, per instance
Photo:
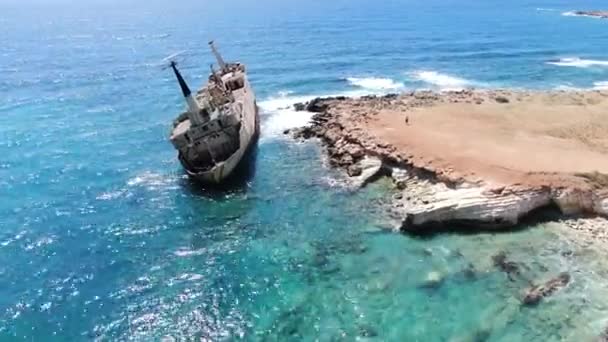
{"label": "blue and turquoise sea surrounding the wrecked ship and headland", "polygon": [[[0,0],[0,340],[595,340],[604,250],[559,224],[400,234],[388,180],[353,191],[282,131],[317,95],[608,88],[608,20],[568,15],[602,6]],[[190,182],[167,140],[184,103],[162,59],[182,52],[199,86],[211,39],[262,110],[224,192]],[[527,279],[573,282],[522,307],[501,251]]]}

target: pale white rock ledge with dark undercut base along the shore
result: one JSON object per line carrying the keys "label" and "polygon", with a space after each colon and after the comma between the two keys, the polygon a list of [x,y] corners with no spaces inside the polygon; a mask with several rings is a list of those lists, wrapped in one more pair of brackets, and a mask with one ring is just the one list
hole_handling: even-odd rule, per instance
{"label": "pale white rock ledge with dark undercut base along the shore", "polygon": [[543,209],[559,209],[563,215],[608,215],[604,207],[607,199],[591,190],[493,188],[466,182],[447,185],[433,182],[432,177],[410,175],[405,169],[393,169],[392,176],[403,191],[394,199],[393,210],[404,218],[401,230],[410,233],[458,227],[506,228]]}

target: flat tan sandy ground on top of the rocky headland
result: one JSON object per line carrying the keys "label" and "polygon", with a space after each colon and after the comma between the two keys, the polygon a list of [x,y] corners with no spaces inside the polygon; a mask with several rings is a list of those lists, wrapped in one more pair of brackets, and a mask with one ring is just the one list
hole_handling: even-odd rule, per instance
{"label": "flat tan sandy ground on top of the rocky headland", "polygon": [[419,166],[472,181],[555,185],[576,182],[575,173],[608,174],[608,92],[402,96],[357,121]]}

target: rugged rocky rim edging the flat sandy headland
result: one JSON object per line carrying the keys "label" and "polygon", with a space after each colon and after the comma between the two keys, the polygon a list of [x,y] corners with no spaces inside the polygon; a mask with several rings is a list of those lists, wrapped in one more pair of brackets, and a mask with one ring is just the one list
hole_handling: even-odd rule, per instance
{"label": "rugged rocky rim edging the flat sandy headland", "polygon": [[[344,169],[360,185],[379,175],[392,177],[398,189],[392,207],[402,231],[424,234],[455,227],[508,228],[548,210],[559,216],[608,217],[608,182],[604,183],[608,177],[601,173],[522,172],[523,181],[489,181],[449,163],[421,162],[420,156],[374,130],[377,116],[387,110],[405,113],[402,125],[407,126],[407,113],[417,108],[453,103],[508,105],[525,101],[525,97],[512,91],[466,90],[317,98],[295,105],[297,110],[316,113],[311,124],[285,133],[298,139],[320,139],[330,164]],[[403,134],[408,133],[404,130]],[[599,226],[608,230],[606,225]]]}

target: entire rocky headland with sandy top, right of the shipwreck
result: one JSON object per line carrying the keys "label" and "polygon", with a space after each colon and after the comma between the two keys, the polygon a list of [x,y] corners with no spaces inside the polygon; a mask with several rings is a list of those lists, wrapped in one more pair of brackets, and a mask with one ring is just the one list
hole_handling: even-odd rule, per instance
{"label": "entire rocky headland with sandy top, right of the shipwreck", "polygon": [[607,92],[417,91],[295,109],[316,114],[286,133],[320,138],[356,183],[392,177],[403,231],[504,229],[550,211],[608,216]]}

